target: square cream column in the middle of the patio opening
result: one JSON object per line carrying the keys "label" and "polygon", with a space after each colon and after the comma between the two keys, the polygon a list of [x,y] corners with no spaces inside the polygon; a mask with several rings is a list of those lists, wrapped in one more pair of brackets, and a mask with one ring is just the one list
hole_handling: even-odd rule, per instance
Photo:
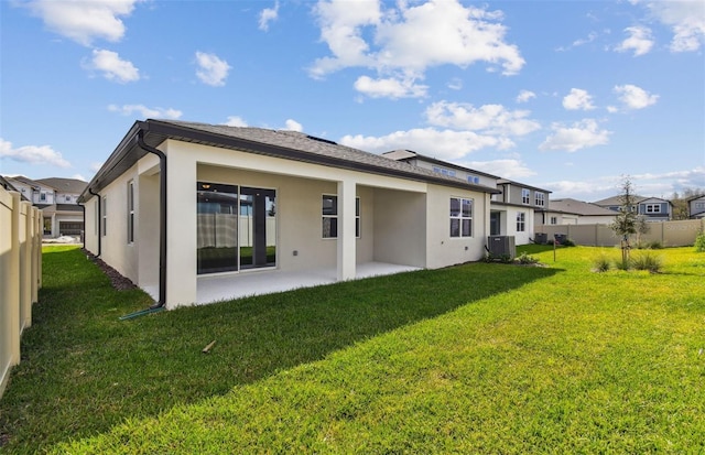
{"label": "square cream column in the middle of the patio opening", "polygon": [[354,181],[338,182],[338,281],[355,279],[355,196]]}

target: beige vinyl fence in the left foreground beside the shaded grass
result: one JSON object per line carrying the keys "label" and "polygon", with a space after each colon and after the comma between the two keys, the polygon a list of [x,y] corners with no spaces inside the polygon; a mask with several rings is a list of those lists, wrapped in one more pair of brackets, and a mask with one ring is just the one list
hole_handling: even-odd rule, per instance
{"label": "beige vinyl fence in the left foreground beside the shaded grass", "polygon": [[42,285],[42,212],[0,187],[0,398]]}

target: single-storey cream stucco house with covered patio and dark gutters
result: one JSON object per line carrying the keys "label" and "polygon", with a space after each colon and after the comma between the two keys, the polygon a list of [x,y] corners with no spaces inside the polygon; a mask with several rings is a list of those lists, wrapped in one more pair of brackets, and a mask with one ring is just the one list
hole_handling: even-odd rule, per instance
{"label": "single-storey cream stucco house with covered patio and dark gutters", "polygon": [[85,248],[174,308],[479,260],[495,193],[301,132],[145,120],[79,203]]}

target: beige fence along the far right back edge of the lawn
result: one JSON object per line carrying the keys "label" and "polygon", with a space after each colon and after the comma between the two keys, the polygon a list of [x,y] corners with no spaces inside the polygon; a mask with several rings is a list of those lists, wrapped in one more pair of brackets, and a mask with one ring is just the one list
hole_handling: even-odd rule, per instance
{"label": "beige fence along the far right back edge of the lawn", "polygon": [[[695,242],[698,232],[705,230],[705,219],[685,219],[677,221],[648,223],[649,231],[640,236],[632,235],[629,241],[632,247],[660,243],[663,247],[690,247]],[[586,247],[618,246],[621,238],[609,228],[609,225],[536,225],[536,232],[546,234],[553,240],[555,234],[564,234],[576,245]]]}

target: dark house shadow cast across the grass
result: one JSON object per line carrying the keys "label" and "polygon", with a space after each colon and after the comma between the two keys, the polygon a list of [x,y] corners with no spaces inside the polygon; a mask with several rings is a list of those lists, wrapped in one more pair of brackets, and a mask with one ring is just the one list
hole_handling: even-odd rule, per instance
{"label": "dark house shadow cast across the grass", "polygon": [[22,362],[0,402],[0,435],[9,440],[3,448],[34,453],[223,394],[556,272],[471,263],[120,322],[147,307],[149,296],[112,289],[79,249],[45,254]]}

